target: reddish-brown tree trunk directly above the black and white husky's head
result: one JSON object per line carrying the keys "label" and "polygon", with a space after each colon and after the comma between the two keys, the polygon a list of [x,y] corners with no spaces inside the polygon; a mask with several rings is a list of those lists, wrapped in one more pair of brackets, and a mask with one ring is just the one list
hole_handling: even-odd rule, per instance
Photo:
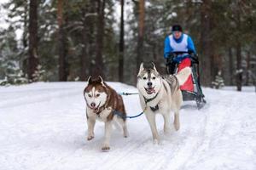
{"label": "reddish-brown tree trunk directly above the black and white husky's head", "polygon": [[145,20],[145,1],[139,1],[138,40],[137,40],[137,71],[143,62],[143,37]]}

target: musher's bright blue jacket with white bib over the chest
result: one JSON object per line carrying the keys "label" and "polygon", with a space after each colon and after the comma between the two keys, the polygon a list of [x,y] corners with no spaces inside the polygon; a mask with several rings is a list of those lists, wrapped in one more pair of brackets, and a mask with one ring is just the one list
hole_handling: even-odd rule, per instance
{"label": "musher's bright blue jacket with white bib over the chest", "polygon": [[184,33],[178,39],[172,35],[166,37],[164,52],[165,59],[168,57],[168,54],[175,51],[193,51],[196,54],[195,45],[192,38]]}

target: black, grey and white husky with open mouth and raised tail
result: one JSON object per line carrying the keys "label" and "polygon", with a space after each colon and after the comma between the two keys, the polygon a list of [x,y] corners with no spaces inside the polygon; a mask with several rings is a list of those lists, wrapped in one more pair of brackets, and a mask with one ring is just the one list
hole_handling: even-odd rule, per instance
{"label": "black, grey and white husky with open mouth and raised tail", "polygon": [[137,89],[140,103],[148,119],[154,143],[160,143],[160,137],[155,124],[155,113],[164,117],[164,132],[171,130],[171,111],[174,112],[174,127],[179,129],[179,109],[183,103],[183,96],[179,88],[191,74],[190,68],[184,68],[177,75],[161,76],[154,63],[140,65],[137,75]]}

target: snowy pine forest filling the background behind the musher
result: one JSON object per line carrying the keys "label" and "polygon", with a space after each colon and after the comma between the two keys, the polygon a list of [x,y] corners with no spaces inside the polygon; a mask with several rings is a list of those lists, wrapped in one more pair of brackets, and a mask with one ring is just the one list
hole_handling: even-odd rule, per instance
{"label": "snowy pine forest filling the background behind the musher", "polygon": [[93,74],[134,85],[142,61],[166,72],[177,23],[195,42],[203,86],[256,83],[254,0],[6,0],[0,14],[3,86]]}

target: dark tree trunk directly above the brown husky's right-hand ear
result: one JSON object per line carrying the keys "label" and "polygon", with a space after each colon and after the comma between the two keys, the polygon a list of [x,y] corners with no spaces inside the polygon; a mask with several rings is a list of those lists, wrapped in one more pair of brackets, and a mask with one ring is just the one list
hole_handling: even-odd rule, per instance
{"label": "dark tree trunk directly above the brown husky's right-hand ear", "polygon": [[96,33],[96,66],[94,74],[104,76],[103,37],[104,37],[104,8],[105,0],[97,0],[97,33]]}

